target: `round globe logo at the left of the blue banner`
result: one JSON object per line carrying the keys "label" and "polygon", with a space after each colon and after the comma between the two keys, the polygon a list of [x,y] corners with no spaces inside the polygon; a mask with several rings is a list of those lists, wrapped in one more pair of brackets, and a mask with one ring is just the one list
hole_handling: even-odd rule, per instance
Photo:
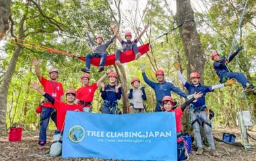
{"label": "round globe logo at the left of the blue banner", "polygon": [[86,131],[84,130],[84,127],[80,125],[74,125],[69,129],[68,136],[72,142],[79,143],[84,140],[84,137],[86,136]]}

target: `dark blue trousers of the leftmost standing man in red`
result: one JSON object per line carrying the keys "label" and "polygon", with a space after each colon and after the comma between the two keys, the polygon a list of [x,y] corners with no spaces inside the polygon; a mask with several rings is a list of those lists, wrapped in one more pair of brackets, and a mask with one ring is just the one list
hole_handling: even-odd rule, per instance
{"label": "dark blue trousers of the leftmost standing man in red", "polygon": [[[55,125],[57,125],[57,116],[51,115],[54,111],[53,108],[42,107],[42,111],[40,113],[40,131],[39,131],[39,142],[46,143],[46,130],[49,125],[50,117],[54,121]],[[42,145],[43,146],[43,145]]]}

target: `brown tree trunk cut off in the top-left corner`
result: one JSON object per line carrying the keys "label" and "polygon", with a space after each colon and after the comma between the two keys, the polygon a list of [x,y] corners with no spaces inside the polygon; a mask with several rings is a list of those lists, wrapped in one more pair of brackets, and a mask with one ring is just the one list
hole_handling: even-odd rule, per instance
{"label": "brown tree trunk cut off in the top-left corner", "polygon": [[[8,19],[11,16],[11,1],[0,0],[0,33],[5,34],[9,29]],[[0,35],[0,40],[3,38]]]}

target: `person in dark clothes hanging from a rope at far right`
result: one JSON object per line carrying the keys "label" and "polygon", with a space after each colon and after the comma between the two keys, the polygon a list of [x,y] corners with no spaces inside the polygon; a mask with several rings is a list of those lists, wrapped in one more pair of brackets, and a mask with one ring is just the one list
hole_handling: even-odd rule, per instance
{"label": "person in dark clothes hanging from a rope at far right", "polygon": [[211,57],[212,60],[214,60],[214,70],[220,77],[220,82],[224,83],[225,80],[227,80],[228,78],[235,78],[238,81],[238,83],[240,83],[243,86],[244,92],[254,91],[255,93],[256,87],[249,84],[247,78],[245,77],[245,74],[241,72],[232,72],[227,66],[227,64],[230,63],[231,60],[233,60],[233,58],[241,50],[243,50],[243,47],[238,46],[236,52],[229,56],[228,59],[226,59],[224,56],[222,56],[222,59],[220,59],[220,54],[218,52],[213,52],[211,54]]}

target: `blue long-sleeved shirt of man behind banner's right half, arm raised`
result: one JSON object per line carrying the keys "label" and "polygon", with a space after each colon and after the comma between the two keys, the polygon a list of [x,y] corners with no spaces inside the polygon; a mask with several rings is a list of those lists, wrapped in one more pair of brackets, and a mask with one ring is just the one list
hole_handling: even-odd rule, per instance
{"label": "blue long-sleeved shirt of man behind banner's right half, arm raised", "polygon": [[181,97],[187,99],[187,94],[175,87],[172,83],[164,81],[163,83],[155,83],[148,79],[145,72],[142,72],[144,81],[155,91],[156,101],[161,102],[164,96],[170,96],[170,92],[174,91]]}

